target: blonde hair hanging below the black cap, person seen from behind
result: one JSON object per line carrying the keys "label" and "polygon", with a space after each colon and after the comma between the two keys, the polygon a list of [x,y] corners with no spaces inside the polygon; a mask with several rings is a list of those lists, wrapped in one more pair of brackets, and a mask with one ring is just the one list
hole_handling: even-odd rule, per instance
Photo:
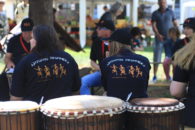
{"label": "blonde hair hanging below the black cap, person seen from behind", "polygon": [[110,45],[109,56],[118,54],[121,49],[128,49],[132,51],[130,45],[125,45],[117,41],[112,41],[109,45]]}

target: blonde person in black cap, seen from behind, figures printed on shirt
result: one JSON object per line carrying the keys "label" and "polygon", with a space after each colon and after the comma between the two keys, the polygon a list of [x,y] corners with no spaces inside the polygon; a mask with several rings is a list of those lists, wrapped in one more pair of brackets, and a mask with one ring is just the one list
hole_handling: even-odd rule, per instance
{"label": "blonde person in black cap, seen from behind, figures printed on shirt", "polygon": [[107,96],[122,100],[129,94],[130,99],[147,97],[150,63],[146,57],[132,51],[129,29],[116,30],[110,40],[109,57],[100,64]]}

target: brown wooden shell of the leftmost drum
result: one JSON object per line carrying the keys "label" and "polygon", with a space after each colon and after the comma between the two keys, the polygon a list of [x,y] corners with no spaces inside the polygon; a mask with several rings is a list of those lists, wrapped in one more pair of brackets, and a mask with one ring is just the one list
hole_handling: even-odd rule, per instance
{"label": "brown wooden shell of the leftmost drum", "polygon": [[40,112],[0,113],[0,130],[39,130]]}

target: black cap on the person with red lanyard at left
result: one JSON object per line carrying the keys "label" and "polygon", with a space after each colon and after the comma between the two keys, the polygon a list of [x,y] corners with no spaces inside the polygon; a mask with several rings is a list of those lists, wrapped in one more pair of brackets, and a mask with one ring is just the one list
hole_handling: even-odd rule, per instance
{"label": "black cap on the person with red lanyard at left", "polygon": [[34,26],[34,23],[33,23],[32,19],[25,18],[22,20],[21,30],[22,30],[22,32],[30,32],[30,31],[32,31],[33,26]]}

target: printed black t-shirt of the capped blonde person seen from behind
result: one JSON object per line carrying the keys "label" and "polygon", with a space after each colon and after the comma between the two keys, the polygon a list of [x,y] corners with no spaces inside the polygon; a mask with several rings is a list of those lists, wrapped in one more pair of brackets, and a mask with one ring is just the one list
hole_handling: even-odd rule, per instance
{"label": "printed black t-shirt of the capped blonde person seen from behind", "polygon": [[147,97],[150,71],[149,60],[129,50],[121,50],[116,56],[105,58],[100,64],[102,84],[108,96],[126,100]]}

